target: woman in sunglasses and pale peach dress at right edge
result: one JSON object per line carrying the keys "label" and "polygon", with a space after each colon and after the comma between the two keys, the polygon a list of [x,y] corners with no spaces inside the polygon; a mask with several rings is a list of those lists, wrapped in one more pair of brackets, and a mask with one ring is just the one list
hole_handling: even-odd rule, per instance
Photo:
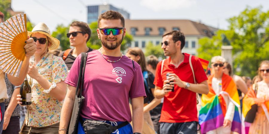
{"label": "woman in sunglasses and pale peach dress at right edge", "polygon": [[[249,127],[249,134],[269,134],[269,60],[261,62],[259,76],[262,81],[254,83],[243,99],[243,115],[251,109],[253,104],[257,104],[257,112],[253,113],[255,119]],[[255,91],[256,89],[256,91]],[[245,114],[244,114],[245,113]]]}

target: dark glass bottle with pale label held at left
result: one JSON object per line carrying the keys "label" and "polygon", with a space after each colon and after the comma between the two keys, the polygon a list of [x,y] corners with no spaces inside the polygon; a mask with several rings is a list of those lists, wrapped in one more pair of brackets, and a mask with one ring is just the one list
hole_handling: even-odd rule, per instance
{"label": "dark glass bottle with pale label held at left", "polygon": [[32,104],[32,91],[28,83],[27,76],[24,79],[24,82],[21,85],[20,95],[22,99],[22,105]]}

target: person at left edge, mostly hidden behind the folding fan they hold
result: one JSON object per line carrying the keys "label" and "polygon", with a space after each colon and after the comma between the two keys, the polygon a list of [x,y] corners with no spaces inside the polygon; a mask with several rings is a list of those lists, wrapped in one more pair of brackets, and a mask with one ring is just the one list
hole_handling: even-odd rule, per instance
{"label": "person at left edge, mostly hidden behind the folding fan they hold", "polygon": [[[2,12],[0,12],[0,26],[4,23],[4,14]],[[11,76],[9,74],[6,75],[7,77],[7,81],[8,81],[8,86],[6,86],[5,83],[5,73],[0,69],[0,111],[1,111],[1,122],[0,122],[0,133],[2,133],[3,130],[3,124],[4,124],[4,120],[6,119],[6,116],[9,116],[12,114],[12,112],[10,113],[5,113],[5,103],[4,103],[4,99],[8,98],[8,94],[7,94],[7,88],[12,88],[12,84],[13,85],[21,85],[22,82],[24,81],[25,76],[27,75],[27,70],[28,70],[28,66],[29,66],[29,60],[30,57],[35,53],[36,51],[36,44],[33,41],[32,38],[29,38],[25,40],[25,60],[22,63],[22,67],[19,73],[19,77],[14,77]],[[16,99],[16,97],[15,97]],[[15,106],[16,107],[16,106]],[[7,111],[8,112],[8,111]],[[16,127],[13,126],[13,129],[16,130]]]}

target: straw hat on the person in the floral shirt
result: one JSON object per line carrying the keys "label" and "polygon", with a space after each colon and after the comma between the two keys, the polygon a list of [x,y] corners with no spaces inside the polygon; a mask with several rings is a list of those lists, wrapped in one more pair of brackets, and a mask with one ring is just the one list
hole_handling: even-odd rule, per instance
{"label": "straw hat on the person in the floral shirt", "polygon": [[33,28],[32,32],[28,31],[28,35],[31,36],[33,33],[36,33],[36,32],[42,33],[48,37],[48,41],[51,43],[51,46],[48,47],[49,50],[57,49],[59,47],[60,41],[51,36],[51,30],[48,28],[48,26],[45,23],[40,22],[39,24],[37,24]]}

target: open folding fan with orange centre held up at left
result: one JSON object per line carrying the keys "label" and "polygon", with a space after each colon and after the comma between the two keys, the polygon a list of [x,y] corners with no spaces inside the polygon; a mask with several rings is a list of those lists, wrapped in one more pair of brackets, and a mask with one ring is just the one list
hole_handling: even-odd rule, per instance
{"label": "open folding fan with orange centre held up at left", "polygon": [[18,77],[25,58],[26,14],[17,14],[0,26],[0,69]]}

